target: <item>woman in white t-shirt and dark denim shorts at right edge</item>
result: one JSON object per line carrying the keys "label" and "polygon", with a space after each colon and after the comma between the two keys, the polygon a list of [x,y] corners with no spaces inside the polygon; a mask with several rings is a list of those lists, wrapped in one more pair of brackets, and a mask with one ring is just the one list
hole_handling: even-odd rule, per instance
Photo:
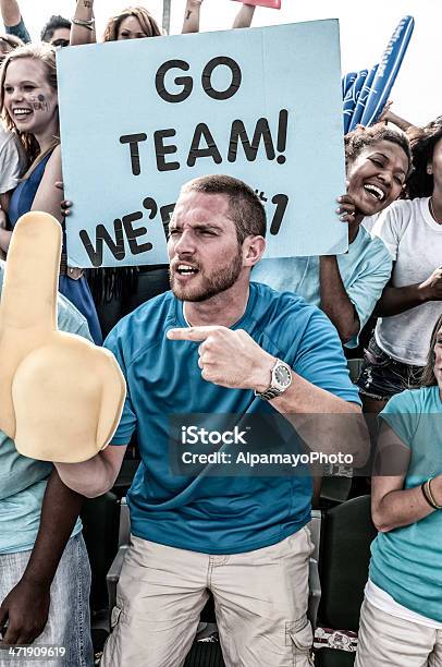
{"label": "woman in white t-shirt and dark denim shorts at right edge", "polygon": [[409,199],[392,204],[372,230],[394,265],[357,383],[366,412],[378,413],[392,396],[418,384],[432,323],[442,313],[442,126],[420,131],[412,150]]}

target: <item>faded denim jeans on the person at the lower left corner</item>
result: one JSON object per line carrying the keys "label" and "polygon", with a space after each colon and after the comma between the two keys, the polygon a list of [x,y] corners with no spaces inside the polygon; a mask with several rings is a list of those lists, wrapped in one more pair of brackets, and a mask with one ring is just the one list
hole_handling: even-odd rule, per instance
{"label": "faded denim jeans on the person at the lower left corner", "polygon": [[[4,599],[20,581],[30,551],[0,554],[0,599]],[[0,651],[0,667],[91,667],[94,651],[89,618],[90,567],[86,545],[79,533],[67,542],[51,585],[49,618],[44,632],[34,646],[63,646],[63,657],[29,660],[9,657],[8,650]],[[3,655],[4,654],[4,655]]]}

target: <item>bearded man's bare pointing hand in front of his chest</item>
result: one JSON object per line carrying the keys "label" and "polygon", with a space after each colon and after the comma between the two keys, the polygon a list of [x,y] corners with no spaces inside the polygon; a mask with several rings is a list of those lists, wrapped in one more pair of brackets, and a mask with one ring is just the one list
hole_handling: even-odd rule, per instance
{"label": "bearded man's bare pointing hand in front of his chest", "polygon": [[188,327],[170,329],[170,340],[191,340],[199,345],[198,366],[208,383],[231,389],[265,391],[270,384],[275,359],[243,329]]}

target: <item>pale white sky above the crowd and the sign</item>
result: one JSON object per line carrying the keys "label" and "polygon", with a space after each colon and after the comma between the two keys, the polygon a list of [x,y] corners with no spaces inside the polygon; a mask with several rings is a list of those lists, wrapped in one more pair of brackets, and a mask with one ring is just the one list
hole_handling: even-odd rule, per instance
{"label": "pale white sky above the crowd and the sign", "polygon": [[[50,14],[71,17],[74,0],[19,0],[25,23],[34,38]],[[109,16],[135,4],[136,0],[96,0],[97,33],[102,34]],[[162,0],[145,5],[161,22]],[[185,0],[172,0],[171,34],[181,32]],[[240,3],[233,0],[204,0],[201,31],[226,29],[232,25]],[[442,114],[439,88],[442,72],[441,0],[282,0],[282,9],[257,8],[254,26],[294,23],[319,19],[339,19],[341,26],[342,72],[371,68],[380,57],[400,20],[415,19],[415,31],[402,69],[391,94],[398,116],[425,124]],[[288,56],[288,54],[287,54]]]}

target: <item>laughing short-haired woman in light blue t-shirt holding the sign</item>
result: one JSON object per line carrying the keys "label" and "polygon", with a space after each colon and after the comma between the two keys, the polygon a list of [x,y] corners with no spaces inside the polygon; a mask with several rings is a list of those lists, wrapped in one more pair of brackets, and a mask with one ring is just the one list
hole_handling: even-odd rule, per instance
{"label": "laughing short-haired woman in light blue t-shirt holding the sign", "polygon": [[345,161],[347,192],[339,199],[337,213],[348,225],[348,252],[261,259],[253,279],[281,292],[295,292],[319,306],[342,342],[355,348],[392,268],[385,244],[371,239],[364,221],[401,195],[412,156],[404,134],[375,125],[345,136]]}

